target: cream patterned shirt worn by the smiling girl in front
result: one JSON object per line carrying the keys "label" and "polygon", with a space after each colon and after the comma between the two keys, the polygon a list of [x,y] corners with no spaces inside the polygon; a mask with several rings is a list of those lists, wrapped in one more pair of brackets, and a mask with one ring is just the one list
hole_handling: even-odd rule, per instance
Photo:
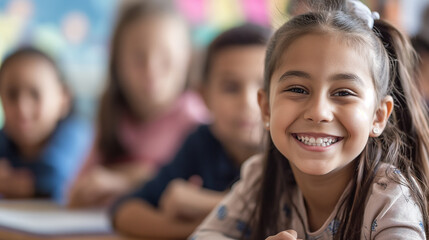
{"label": "cream patterned shirt worn by the smiling girl in front", "polygon": [[[392,182],[386,177],[389,165],[383,164],[371,187],[366,202],[361,239],[394,240],[426,239],[422,223],[422,214],[415,201],[410,197],[410,189]],[[257,155],[243,165],[241,180],[231,192],[210,213],[204,222],[191,235],[192,240],[239,239],[246,228],[250,214],[255,207],[255,186],[262,175],[263,157]],[[401,174],[392,168],[393,174]],[[349,186],[350,187],[350,186]],[[346,188],[341,198],[347,196]],[[323,226],[308,231],[307,214],[301,192],[297,188],[292,198],[296,208],[284,205],[279,223],[291,218],[291,225],[284,230],[297,231],[298,238],[307,240],[333,239],[340,222],[335,219],[338,204]],[[341,202],[341,201],[339,201]],[[302,220],[299,215],[302,216]],[[307,229],[307,230],[306,230]],[[245,235],[251,235],[251,229]]]}

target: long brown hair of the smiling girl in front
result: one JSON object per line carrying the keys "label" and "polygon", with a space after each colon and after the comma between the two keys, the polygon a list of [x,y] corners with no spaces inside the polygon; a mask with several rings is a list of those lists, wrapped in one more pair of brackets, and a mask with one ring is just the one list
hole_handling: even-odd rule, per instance
{"label": "long brown hair of the smiling girl in front", "polygon": [[[416,54],[408,39],[389,23],[376,20],[370,29],[362,19],[347,13],[342,1],[331,2],[337,5],[331,5],[330,11],[297,16],[277,30],[266,54],[266,93],[269,94],[270,79],[283,52],[305,34],[336,34],[349,46],[366,53],[377,100],[390,95],[395,106],[383,134],[369,138],[367,146],[353,162],[352,188],[340,203],[336,218],[341,224],[335,239],[361,239],[365,203],[381,163],[388,163],[401,171],[401,179],[391,174],[391,169],[386,174],[392,181],[410,188],[412,198],[422,212],[426,236],[429,236],[429,124],[426,105],[415,83]],[[288,160],[269,138],[256,208],[249,222],[253,230],[251,239],[265,239],[285,230],[284,225],[279,226],[280,201],[286,197],[285,200],[293,206],[291,196],[295,188]]]}

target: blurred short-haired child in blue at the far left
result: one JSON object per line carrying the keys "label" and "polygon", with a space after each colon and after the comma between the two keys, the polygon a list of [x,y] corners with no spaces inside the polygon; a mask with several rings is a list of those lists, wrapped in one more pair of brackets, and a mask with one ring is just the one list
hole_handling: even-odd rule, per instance
{"label": "blurred short-haired child in blue at the far left", "polygon": [[72,116],[55,62],[34,48],[12,53],[0,67],[0,97],[1,196],[62,202],[91,146],[92,129]]}

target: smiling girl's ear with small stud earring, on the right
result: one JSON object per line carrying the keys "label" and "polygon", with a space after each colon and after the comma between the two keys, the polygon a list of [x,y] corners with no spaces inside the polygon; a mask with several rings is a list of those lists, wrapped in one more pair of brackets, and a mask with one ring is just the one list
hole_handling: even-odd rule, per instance
{"label": "smiling girl's ear with small stud earring, on the right", "polygon": [[378,137],[386,127],[387,121],[389,120],[390,114],[393,110],[393,98],[386,96],[380,103],[377,111],[374,115],[374,121],[372,123],[372,129],[369,133],[370,137]]}

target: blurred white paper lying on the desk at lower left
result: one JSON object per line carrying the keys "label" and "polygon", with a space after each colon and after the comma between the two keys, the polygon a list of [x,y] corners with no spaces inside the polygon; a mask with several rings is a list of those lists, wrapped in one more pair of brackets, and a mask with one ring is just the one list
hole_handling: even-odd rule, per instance
{"label": "blurred white paper lying on the desk at lower left", "polygon": [[1,200],[0,227],[36,235],[111,232],[107,210],[72,210],[41,200]]}

